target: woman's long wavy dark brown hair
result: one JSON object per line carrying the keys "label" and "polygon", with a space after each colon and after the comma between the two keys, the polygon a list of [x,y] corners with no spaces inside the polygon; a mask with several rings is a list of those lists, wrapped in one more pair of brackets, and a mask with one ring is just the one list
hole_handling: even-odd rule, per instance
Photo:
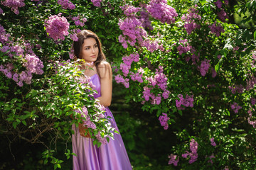
{"label": "woman's long wavy dark brown hair", "polygon": [[97,74],[99,74],[98,65],[100,64],[100,62],[106,61],[106,57],[102,52],[102,44],[100,42],[100,39],[91,30],[81,30],[80,33],[77,34],[77,36],[78,36],[78,41],[73,42],[73,50],[74,50],[75,57],[79,59],[81,59],[80,53],[81,53],[82,44],[84,43],[84,40],[87,38],[94,38],[96,40],[97,46],[99,48],[99,54],[97,56],[97,60],[95,61],[95,66],[97,69]]}

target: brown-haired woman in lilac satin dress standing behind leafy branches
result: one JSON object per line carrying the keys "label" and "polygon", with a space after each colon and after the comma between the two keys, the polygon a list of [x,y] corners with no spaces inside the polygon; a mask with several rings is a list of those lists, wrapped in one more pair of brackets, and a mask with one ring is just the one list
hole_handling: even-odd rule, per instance
{"label": "brown-haired woman in lilac satin dress standing behind leafy branches", "polygon": [[[83,59],[85,62],[93,62],[90,66],[92,69],[85,69],[84,65],[81,65],[80,69],[85,69],[84,74],[90,77],[92,84],[96,86],[98,94],[95,94],[95,98],[105,106],[105,115],[113,118],[110,109],[107,108],[110,106],[112,98],[112,69],[110,64],[105,61],[100,40],[90,30],[82,30],[77,36],[78,41],[73,42],[75,57]],[[117,129],[114,118],[111,122],[113,128]],[[74,170],[132,169],[121,135],[114,134],[114,140],[110,139],[106,145],[97,148],[92,144],[90,137],[80,135],[79,128],[75,125],[72,128],[75,131],[75,134],[72,135],[73,152],[77,155],[73,156]]]}

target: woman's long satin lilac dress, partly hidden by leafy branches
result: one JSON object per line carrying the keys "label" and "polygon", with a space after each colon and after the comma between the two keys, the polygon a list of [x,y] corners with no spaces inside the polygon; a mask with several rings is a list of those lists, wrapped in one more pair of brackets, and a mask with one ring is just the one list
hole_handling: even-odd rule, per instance
{"label": "woman's long satin lilac dress, partly hidden by leafy branches", "polygon": [[[91,77],[91,81],[98,92],[94,97],[100,97],[100,77],[95,74]],[[118,130],[117,123],[115,123],[113,115],[107,107],[105,115],[112,117],[110,121],[114,126],[113,128]],[[121,135],[114,133],[114,140],[110,138],[110,142],[97,148],[97,145],[92,144],[91,138],[80,135],[79,129],[75,125],[72,126],[72,129],[75,132],[72,135],[73,153],[77,155],[77,157],[73,156],[73,170],[132,169]]]}

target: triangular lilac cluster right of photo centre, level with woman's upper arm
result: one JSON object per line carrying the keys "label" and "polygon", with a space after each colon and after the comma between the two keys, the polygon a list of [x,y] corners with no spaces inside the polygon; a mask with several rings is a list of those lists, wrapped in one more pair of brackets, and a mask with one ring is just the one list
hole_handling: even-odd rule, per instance
{"label": "triangular lilac cluster right of photo centre, level with woman's upper arm", "polygon": [[[162,66],[159,66],[159,69],[156,69],[156,73],[154,77],[146,77],[146,81],[149,82],[149,88],[148,86],[144,86],[143,98],[145,101],[149,101],[151,98],[151,104],[157,104],[159,105],[161,103],[161,98],[164,99],[169,98],[170,91],[167,90],[167,77],[163,73],[164,69]],[[163,91],[161,94],[157,94],[157,96],[153,93],[151,93],[151,89],[160,89]],[[145,103],[145,101],[142,101],[142,104]]]}

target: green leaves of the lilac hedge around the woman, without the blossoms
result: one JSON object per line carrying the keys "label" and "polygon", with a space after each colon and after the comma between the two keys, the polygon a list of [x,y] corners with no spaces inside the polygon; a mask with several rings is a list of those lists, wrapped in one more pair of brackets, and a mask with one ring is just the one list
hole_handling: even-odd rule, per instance
{"label": "green leaves of the lilac hedge around the woman, without the blossoms", "polygon": [[[132,164],[136,166],[134,169],[224,169],[225,166],[230,169],[254,169],[256,134],[255,128],[248,124],[248,119],[255,121],[256,106],[252,105],[250,99],[255,98],[256,94],[255,86],[245,87],[250,85],[255,77],[255,67],[252,66],[255,64],[256,1],[230,1],[228,5],[223,4],[223,10],[230,17],[228,22],[220,21],[217,14],[220,8],[213,4],[214,1],[168,1],[168,4],[176,9],[178,17],[173,24],[161,23],[150,17],[154,29],[146,30],[149,38],[157,40],[164,47],[163,51],[154,52],[139,45],[137,47],[129,45],[124,49],[118,42],[118,37],[122,34],[118,26],[119,19],[127,17],[119,6],[130,4],[137,7],[140,3],[149,4],[149,1],[103,1],[100,8],[97,8],[90,1],[74,0],[72,1],[76,6],[74,10],[63,9],[52,0],[41,3],[29,0],[24,2],[26,6],[18,8],[20,11],[18,15],[11,11],[11,8],[1,4],[4,13],[0,14],[0,24],[6,33],[10,33],[15,45],[20,45],[24,50],[26,50],[24,42],[34,46],[33,52],[43,61],[44,73],[33,74],[31,84],[19,87],[14,80],[7,79],[0,72],[0,135],[4,139],[9,139],[10,144],[24,140],[46,146],[46,149],[42,149],[43,159],[40,159],[37,166],[31,164],[31,167],[28,167],[34,159],[31,154],[27,154],[31,157],[23,160],[23,164],[27,164],[27,169],[48,167],[47,164],[53,164],[51,169],[65,169],[63,164],[68,161],[65,159],[70,159],[73,153],[70,147],[64,147],[65,152],[61,152],[61,155],[65,157],[60,157],[60,152],[57,153],[57,147],[53,145],[57,145],[59,141],[70,144],[71,125],[74,123],[78,125],[82,121],[81,115],[74,110],[81,110],[86,106],[90,114],[100,113],[97,103],[90,98],[94,91],[89,86],[78,84],[77,78],[82,72],[75,69],[74,63],[63,62],[69,59],[68,52],[73,42],[70,35],[63,41],[55,41],[46,33],[44,21],[58,13],[62,13],[62,16],[68,19],[70,30],[90,29],[97,33],[108,60],[114,62],[115,67],[119,67],[124,55],[139,53],[139,62],[133,62],[130,71],[138,72],[142,67],[144,82],[129,81],[129,89],[124,90],[126,93],[124,98],[127,102],[144,101],[145,86],[151,88],[152,94],[161,94],[162,91],[153,88],[146,77],[154,77],[156,69],[159,69],[159,66],[164,67],[164,74],[168,79],[167,89],[171,92],[169,98],[162,99],[159,105],[146,101],[141,106],[145,115],[139,118],[128,113],[117,115],[117,123],[122,124],[119,129],[126,143],[127,152]],[[195,7],[195,4],[198,7]],[[195,21],[200,28],[188,34],[181,17],[189,13],[191,7],[198,10],[201,19]],[[72,18],[78,15],[87,18],[85,26],[75,26]],[[140,13],[137,15],[139,16]],[[234,23],[232,16],[239,16],[240,23]],[[210,31],[209,26],[215,22],[225,30],[220,36]],[[184,46],[179,42],[180,40],[188,40],[193,50],[179,54],[179,45]],[[40,45],[41,48],[37,48],[36,45]],[[0,47],[3,47],[3,44],[0,43]],[[193,55],[198,56],[198,61],[192,61]],[[11,62],[17,72],[25,69],[23,63],[26,60],[22,56],[14,56],[11,59],[6,52],[0,52],[0,58],[0,64]],[[200,72],[203,60],[210,61],[210,69],[206,76],[202,76]],[[216,77],[211,75],[214,70],[217,72]],[[122,71],[119,70],[114,74],[122,74]],[[238,91],[233,93],[230,90],[240,85],[244,87],[241,93]],[[178,94],[193,95],[193,108],[182,106],[184,110],[178,110],[176,107]],[[242,107],[238,113],[231,108],[234,102]],[[133,111],[129,110],[129,112]],[[159,129],[157,119],[154,123],[146,120],[150,116],[158,118],[161,113],[167,113],[169,116],[169,131],[166,133]],[[70,118],[70,115],[77,119]],[[100,120],[97,130],[105,130],[105,122],[106,119]],[[90,133],[96,134],[97,130],[92,130]],[[162,141],[156,139],[157,132],[160,136],[174,132],[175,141],[167,147],[167,144],[164,144],[166,142],[163,142],[164,139]],[[104,135],[111,137],[111,133],[107,131]],[[210,145],[212,137],[217,144],[215,147]],[[181,157],[189,151],[191,139],[198,142],[198,159],[193,164],[188,163],[189,158]],[[178,155],[178,167],[162,166],[162,164],[156,166],[157,158],[152,156],[155,153],[149,151],[149,148],[156,147],[156,143],[152,145],[149,142],[151,140],[157,141],[162,146],[161,151],[168,148],[169,154]],[[100,146],[97,140],[94,143]],[[213,164],[209,163],[211,154],[215,157]],[[167,154],[161,157],[164,162],[168,162],[167,159]],[[8,165],[4,163],[0,168],[4,169],[6,166]]]}

